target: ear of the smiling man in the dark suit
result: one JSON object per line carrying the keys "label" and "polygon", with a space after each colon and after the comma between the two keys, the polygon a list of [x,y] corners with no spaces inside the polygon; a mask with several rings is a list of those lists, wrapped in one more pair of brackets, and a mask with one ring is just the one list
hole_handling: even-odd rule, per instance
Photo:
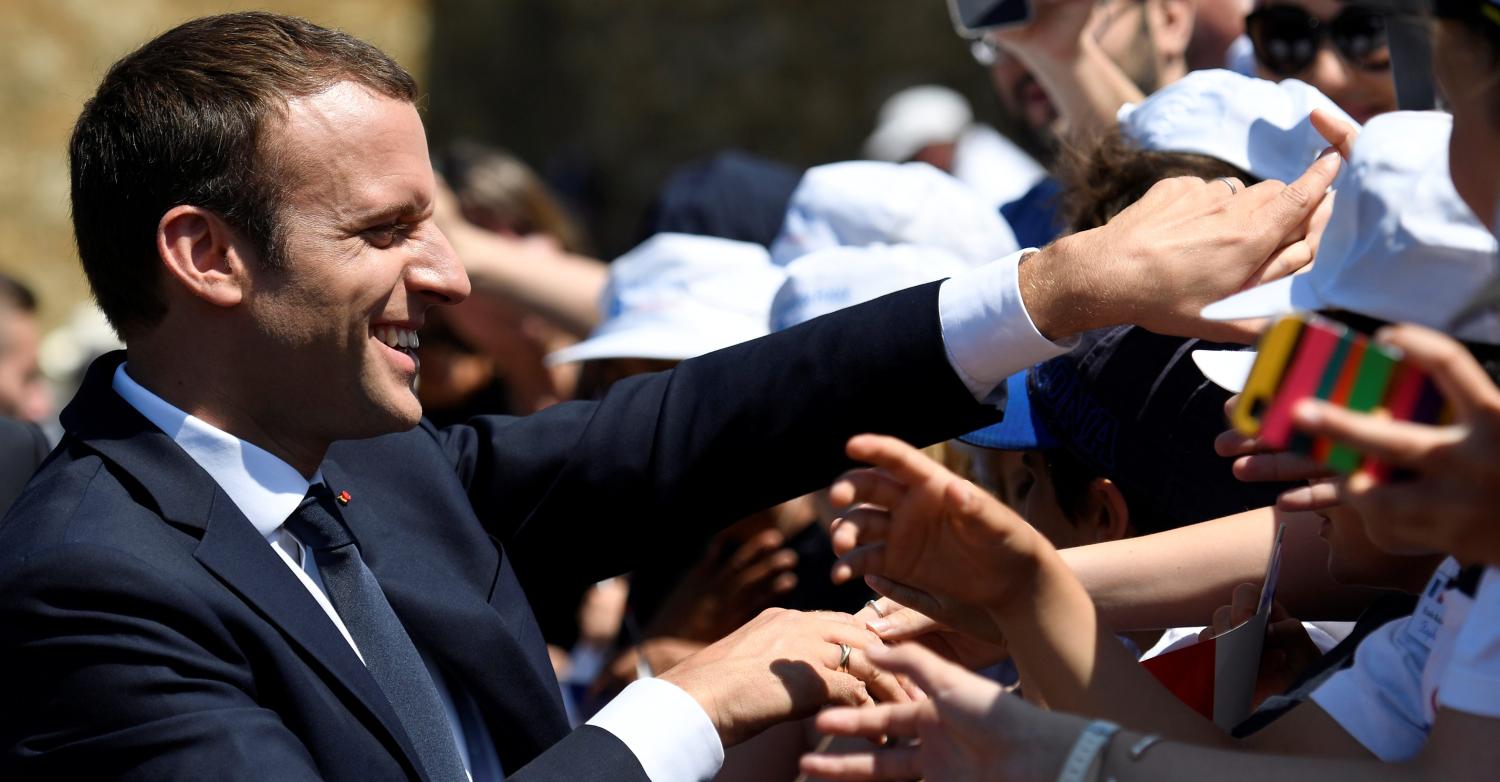
{"label": "ear of the smiling man in the dark suit", "polygon": [[246,264],[238,237],[224,218],[196,206],[174,206],[156,225],[156,254],[192,296],[214,306],[244,297]]}

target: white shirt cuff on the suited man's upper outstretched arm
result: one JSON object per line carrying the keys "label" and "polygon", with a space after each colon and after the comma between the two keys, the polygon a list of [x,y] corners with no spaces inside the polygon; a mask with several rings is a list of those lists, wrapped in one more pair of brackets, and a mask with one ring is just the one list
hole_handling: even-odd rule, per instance
{"label": "white shirt cuff on the suited man's upper outstretched arm", "polygon": [[981,402],[1005,378],[1062,356],[1077,342],[1047,339],[1026,312],[1017,267],[1029,252],[1035,251],[1012,252],[954,275],[938,290],[938,320],[948,363]]}

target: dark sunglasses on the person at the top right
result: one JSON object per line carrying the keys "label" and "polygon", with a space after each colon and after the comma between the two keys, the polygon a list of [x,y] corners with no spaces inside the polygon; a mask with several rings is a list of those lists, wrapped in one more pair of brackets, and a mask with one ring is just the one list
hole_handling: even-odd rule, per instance
{"label": "dark sunglasses on the person at the top right", "polygon": [[1323,21],[1298,6],[1266,6],[1245,17],[1245,32],[1256,59],[1278,77],[1308,69],[1326,39],[1338,54],[1362,71],[1390,68],[1386,53],[1386,17],[1366,6],[1344,6]]}

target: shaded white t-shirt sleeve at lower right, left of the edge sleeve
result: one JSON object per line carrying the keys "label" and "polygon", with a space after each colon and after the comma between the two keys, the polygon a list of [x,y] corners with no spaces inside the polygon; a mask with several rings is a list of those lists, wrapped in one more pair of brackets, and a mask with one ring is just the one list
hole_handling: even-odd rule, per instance
{"label": "shaded white t-shirt sleeve at lower right, left of the edge sleeve", "polygon": [[1376,627],[1354,650],[1353,665],[1312,690],[1312,702],[1386,762],[1410,759],[1426,743],[1422,713],[1426,650],[1407,641],[1410,620],[1402,617]]}

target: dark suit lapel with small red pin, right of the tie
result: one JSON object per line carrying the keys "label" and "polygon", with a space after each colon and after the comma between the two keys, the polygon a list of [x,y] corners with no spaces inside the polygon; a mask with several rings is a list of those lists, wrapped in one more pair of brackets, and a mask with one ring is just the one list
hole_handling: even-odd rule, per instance
{"label": "dark suit lapel with small red pin, right of the tie", "polygon": [[362,501],[376,492],[333,459],[324,461],[322,476],[334,492],[354,497],[340,512],[364,561],[412,641],[480,704],[506,767],[528,762],[567,735],[556,677],[519,584],[510,581],[519,602],[513,623],[489,603],[496,576],[510,576],[501,570],[498,543],[477,521],[468,530],[432,515],[387,518],[387,507]]}

